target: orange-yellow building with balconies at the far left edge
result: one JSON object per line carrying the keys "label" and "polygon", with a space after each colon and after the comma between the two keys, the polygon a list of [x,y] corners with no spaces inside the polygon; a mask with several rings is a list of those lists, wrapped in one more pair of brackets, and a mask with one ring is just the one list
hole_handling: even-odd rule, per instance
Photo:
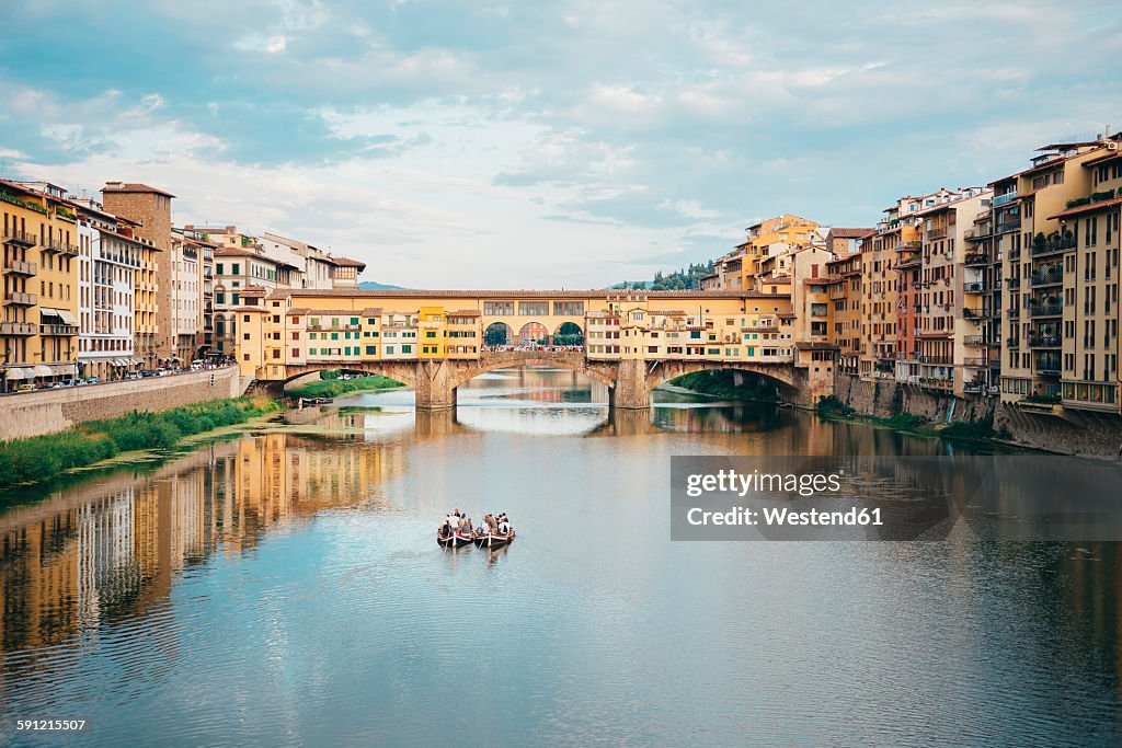
{"label": "orange-yellow building with balconies at the far left edge", "polygon": [[61,187],[0,181],[3,390],[77,373],[77,214]]}

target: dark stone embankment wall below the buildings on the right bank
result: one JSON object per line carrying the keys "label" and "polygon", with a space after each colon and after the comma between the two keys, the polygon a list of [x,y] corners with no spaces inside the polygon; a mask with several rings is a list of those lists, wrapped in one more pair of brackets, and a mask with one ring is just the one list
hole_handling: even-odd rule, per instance
{"label": "dark stone embankment wall below the buildings on the right bank", "polygon": [[934,395],[916,385],[892,380],[862,381],[838,373],[834,395],[866,416],[888,418],[912,413],[936,423],[993,418],[993,428],[1004,441],[1038,450],[1086,456],[1116,456],[1122,444],[1122,418],[1109,413],[1073,412],[1070,408],[1020,407],[996,397],[956,398]]}

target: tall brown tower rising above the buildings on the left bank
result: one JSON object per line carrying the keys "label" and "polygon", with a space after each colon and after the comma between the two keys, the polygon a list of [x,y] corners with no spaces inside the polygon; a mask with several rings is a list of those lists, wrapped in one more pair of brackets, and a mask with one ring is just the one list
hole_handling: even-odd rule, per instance
{"label": "tall brown tower rising above the buildings on the left bank", "polygon": [[107,182],[101,188],[104,210],[132,222],[134,237],[147,248],[136,273],[134,350],[145,367],[171,363],[173,357],[172,200],[169,192],[134,182]]}

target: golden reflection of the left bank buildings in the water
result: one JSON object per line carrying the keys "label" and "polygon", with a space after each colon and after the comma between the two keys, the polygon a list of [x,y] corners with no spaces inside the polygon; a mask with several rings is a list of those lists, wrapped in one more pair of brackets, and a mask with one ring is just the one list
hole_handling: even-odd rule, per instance
{"label": "golden reflection of the left bank buildings in the water", "polygon": [[254,547],[278,524],[367,500],[404,460],[402,444],[340,449],[269,434],[11,509],[0,516],[0,649],[56,644],[144,612],[184,567]]}

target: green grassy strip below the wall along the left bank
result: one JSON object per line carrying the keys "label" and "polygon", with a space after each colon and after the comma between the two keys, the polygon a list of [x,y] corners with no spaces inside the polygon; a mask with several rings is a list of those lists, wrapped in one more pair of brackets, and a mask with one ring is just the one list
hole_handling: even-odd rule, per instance
{"label": "green grassy strip below the wall along the left bank", "polygon": [[156,413],[136,412],[89,421],[57,434],[0,442],[0,488],[47,480],[121,452],[171,449],[185,436],[245,423],[279,407],[269,399],[239,397]]}

